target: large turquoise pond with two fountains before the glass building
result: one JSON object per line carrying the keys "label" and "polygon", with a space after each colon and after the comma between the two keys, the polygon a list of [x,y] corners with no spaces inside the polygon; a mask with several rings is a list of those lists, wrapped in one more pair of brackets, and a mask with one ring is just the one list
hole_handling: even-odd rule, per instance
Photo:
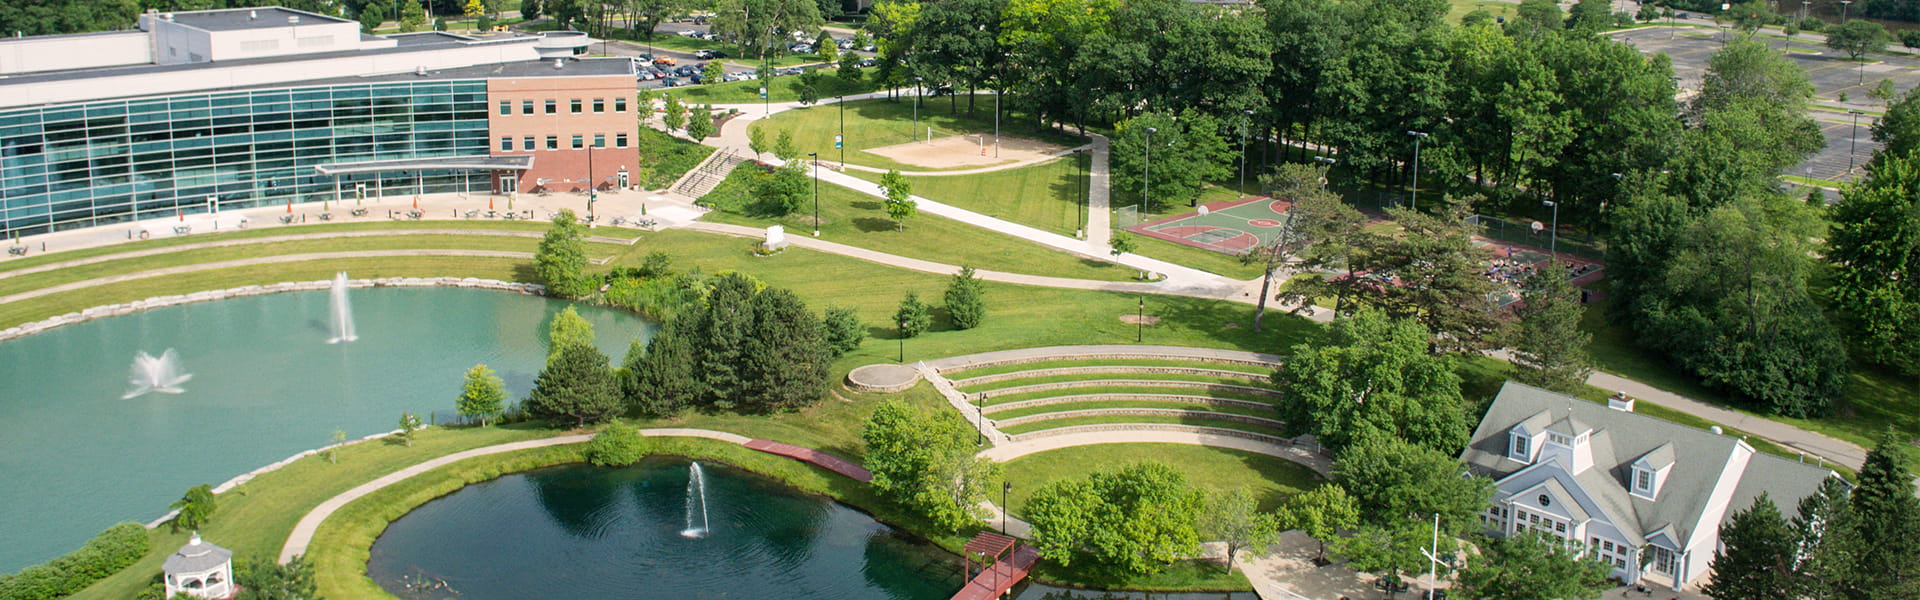
{"label": "large turquoise pond with two fountains before the glass building", "polygon": [[[467,288],[357,288],[359,340],[326,344],[328,294],[152,310],[0,342],[0,573],[150,521],[188,487],[301,450],[390,431],[401,412],[453,413],[488,363],[513,398],[545,360],[566,302]],[[653,327],[580,306],[618,360]],[[184,394],[121,400],[134,354],[175,348]]]}

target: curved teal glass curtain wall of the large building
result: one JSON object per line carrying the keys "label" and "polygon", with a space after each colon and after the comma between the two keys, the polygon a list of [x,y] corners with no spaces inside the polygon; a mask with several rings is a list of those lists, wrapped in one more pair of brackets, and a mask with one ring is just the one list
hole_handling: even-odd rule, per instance
{"label": "curved teal glass curtain wall of the large building", "polygon": [[[0,112],[0,237],[334,198],[323,163],[488,156],[486,81],[403,81],[104,100]],[[342,177],[367,198],[415,173]],[[426,192],[490,177],[430,171]]]}

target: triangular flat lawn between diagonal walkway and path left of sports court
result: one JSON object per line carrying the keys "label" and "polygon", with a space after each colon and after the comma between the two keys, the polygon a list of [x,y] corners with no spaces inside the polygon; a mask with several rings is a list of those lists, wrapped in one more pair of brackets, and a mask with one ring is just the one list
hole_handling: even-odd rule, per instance
{"label": "triangular flat lawn between diagonal walkway and path left of sports court", "polygon": [[[1020,225],[1075,235],[1087,225],[1087,169],[1091,156],[1071,156],[1031,167],[975,175],[918,175],[914,194]],[[881,173],[847,171],[879,183]]]}

